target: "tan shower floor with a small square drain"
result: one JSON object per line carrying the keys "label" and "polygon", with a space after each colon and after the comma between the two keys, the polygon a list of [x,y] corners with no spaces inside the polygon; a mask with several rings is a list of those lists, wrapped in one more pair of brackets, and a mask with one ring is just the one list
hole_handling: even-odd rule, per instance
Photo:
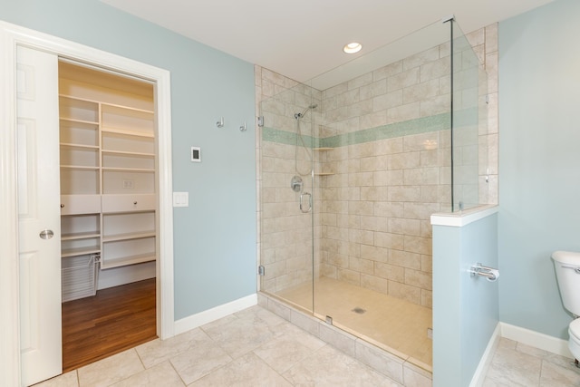
{"label": "tan shower floor with a small square drain", "polygon": [[[314,292],[314,314],[321,318],[329,315],[333,325],[423,369],[432,369],[433,345],[427,335],[432,326],[430,308],[328,277],[314,282]],[[311,283],[279,292],[277,296],[312,310]]]}

